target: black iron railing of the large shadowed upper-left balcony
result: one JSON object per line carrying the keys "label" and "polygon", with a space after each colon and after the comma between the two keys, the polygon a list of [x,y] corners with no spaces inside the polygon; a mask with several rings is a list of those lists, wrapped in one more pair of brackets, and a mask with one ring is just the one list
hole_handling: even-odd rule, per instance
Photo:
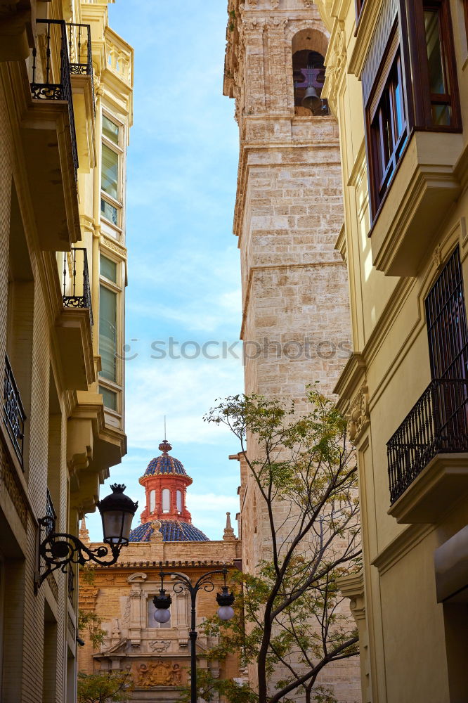
{"label": "black iron railing of the large shadowed upper-left balcony", "polygon": [[[63,20],[36,20],[38,26],[37,46],[32,50],[31,95],[37,100],[63,100],[68,103],[70,134],[75,178],[78,170],[77,133],[74,127],[70,60],[68,57],[67,31]],[[52,37],[60,33],[60,75],[54,75]],[[39,58],[38,58],[39,53]]]}

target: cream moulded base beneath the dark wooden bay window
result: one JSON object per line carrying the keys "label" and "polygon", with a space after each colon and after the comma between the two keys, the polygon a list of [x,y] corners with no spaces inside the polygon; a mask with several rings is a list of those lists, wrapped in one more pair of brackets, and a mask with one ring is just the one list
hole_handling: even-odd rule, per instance
{"label": "cream moulded base beneath the dark wooden bay window", "polygon": [[370,231],[372,264],[386,276],[415,276],[460,193],[462,134],[415,131]]}

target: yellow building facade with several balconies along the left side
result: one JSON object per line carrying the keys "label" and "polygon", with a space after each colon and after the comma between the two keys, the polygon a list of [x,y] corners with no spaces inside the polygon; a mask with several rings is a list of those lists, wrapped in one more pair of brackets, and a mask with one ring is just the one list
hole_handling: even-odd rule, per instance
{"label": "yellow building facade with several balconies along the left side", "polygon": [[[0,2],[0,698],[76,699],[77,535],[126,451],[125,152],[133,50],[107,0]],[[51,523],[49,523],[51,524]]]}

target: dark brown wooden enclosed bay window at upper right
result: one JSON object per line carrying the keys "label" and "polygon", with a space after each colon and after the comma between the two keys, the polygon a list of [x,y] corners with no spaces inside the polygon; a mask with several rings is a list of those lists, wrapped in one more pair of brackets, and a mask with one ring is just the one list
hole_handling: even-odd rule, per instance
{"label": "dark brown wooden enclosed bay window at upper right", "polygon": [[390,35],[377,23],[362,75],[372,220],[411,131],[461,128],[449,0],[400,0],[400,10]]}

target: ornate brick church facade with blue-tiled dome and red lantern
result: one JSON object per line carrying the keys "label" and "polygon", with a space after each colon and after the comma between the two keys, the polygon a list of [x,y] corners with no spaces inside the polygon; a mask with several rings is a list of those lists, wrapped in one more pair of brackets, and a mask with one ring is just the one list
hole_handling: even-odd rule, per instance
{"label": "ornate brick church facade with blue-tiled dome and red lantern", "polygon": [[[240,541],[230,525],[229,513],[219,541],[210,540],[193,525],[186,507],[192,479],[181,461],[169,454],[171,449],[164,440],[162,453],[150,461],[140,479],[145,487],[145,508],[141,523],[131,531],[129,545],[115,565],[93,569],[91,583],[80,586],[79,592],[79,607],[95,613],[107,633],[100,650],[93,650],[88,633],[81,633],[85,644],[79,652],[79,670],[88,674],[129,671],[135,686],[131,693],[134,703],[178,701],[190,680],[190,596],[185,589],[174,588],[174,579],[166,576],[171,618],[164,624],[155,621],[152,599],[161,588],[161,569],[183,574],[192,583],[203,574],[218,572],[213,576],[214,590],[201,590],[197,596],[200,628],[218,607],[221,569],[226,565],[229,581],[229,572],[240,567]],[[84,523],[80,536],[89,543]],[[220,678],[238,678],[236,657],[208,662],[206,652],[215,643],[199,629],[198,666],[209,666]]]}

